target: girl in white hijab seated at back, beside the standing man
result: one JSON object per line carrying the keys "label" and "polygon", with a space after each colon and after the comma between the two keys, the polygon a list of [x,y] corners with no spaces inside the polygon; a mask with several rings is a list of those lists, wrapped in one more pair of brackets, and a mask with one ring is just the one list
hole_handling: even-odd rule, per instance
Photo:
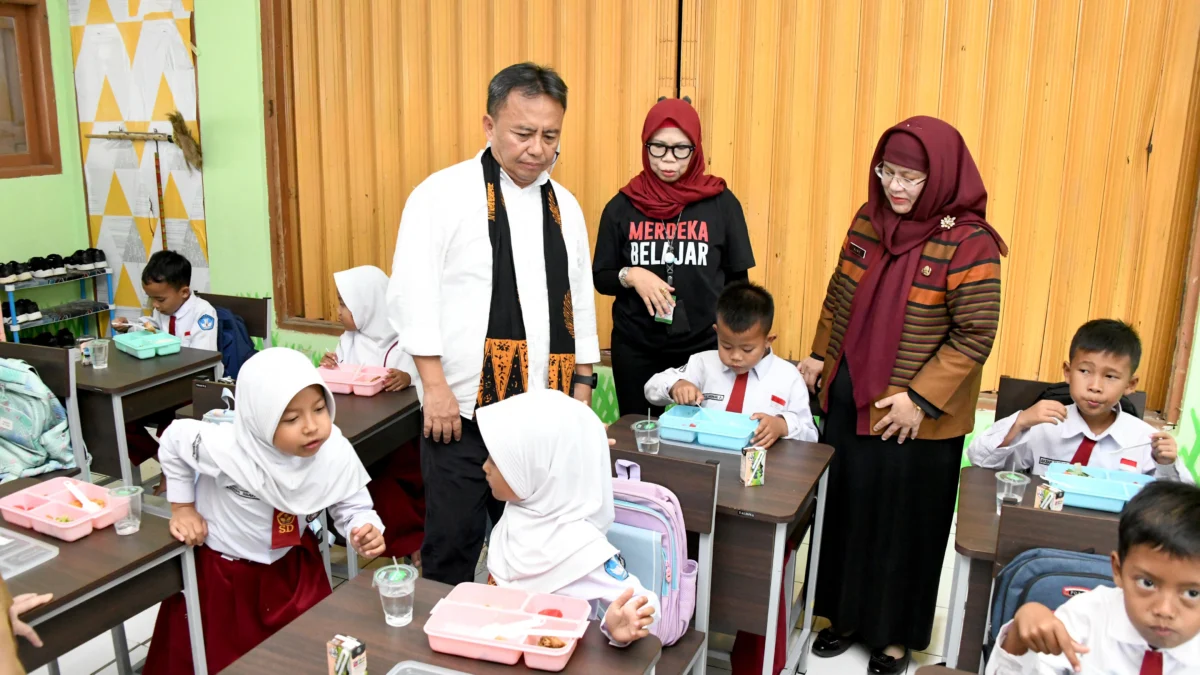
{"label": "girl in white hijab seated at back, beside the standing man", "polygon": [[[413,382],[416,365],[400,348],[396,330],[388,322],[388,275],[382,269],[362,265],[334,274],[338,311],[346,331],[336,352],[325,353],[320,365],[337,364],[386,366],[384,389],[400,392]],[[367,490],[388,534],[385,555],[410,557],[421,563],[425,540],[425,483],[421,479],[421,449],[409,441],[388,458],[368,467]]]}

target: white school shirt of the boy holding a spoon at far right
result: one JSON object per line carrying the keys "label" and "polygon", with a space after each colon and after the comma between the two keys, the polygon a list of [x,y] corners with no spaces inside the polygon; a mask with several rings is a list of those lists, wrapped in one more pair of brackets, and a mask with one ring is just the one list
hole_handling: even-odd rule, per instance
{"label": "white school shirt of the boy holding a spoon at far right", "polygon": [[[1183,465],[1182,455],[1175,464],[1162,465],[1154,461],[1148,443],[1151,434],[1156,434],[1157,429],[1116,410],[1116,420],[1103,432],[1093,434],[1079,413],[1079,407],[1072,404],[1067,406],[1066,422],[1039,424],[1002,448],[1000,444],[1020,414],[1013,413],[976,436],[967,448],[967,459],[972,465],[984,468],[1007,468],[1012,464],[1012,468],[1016,471],[1032,468],[1034,476],[1045,476],[1051,462],[1069,462],[1079,444],[1087,437],[1096,441],[1087,466],[1153,474],[1160,480],[1195,483],[1192,472]],[[1129,449],[1122,452],[1121,448]]]}

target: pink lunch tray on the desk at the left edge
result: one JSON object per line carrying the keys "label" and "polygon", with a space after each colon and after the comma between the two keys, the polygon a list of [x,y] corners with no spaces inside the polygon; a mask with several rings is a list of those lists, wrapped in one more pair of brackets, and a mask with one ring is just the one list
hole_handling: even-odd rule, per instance
{"label": "pink lunch tray on the desk at the left edge", "polygon": [[[71,506],[76,498],[67,491],[66,484],[72,482],[89,500],[103,501],[104,508],[88,513]],[[52,478],[0,498],[0,515],[5,520],[64,542],[74,542],[92,530],[108,527],[128,513],[128,500],[109,497],[107,489],[73,478]],[[70,522],[56,520],[61,516],[70,518]]]}

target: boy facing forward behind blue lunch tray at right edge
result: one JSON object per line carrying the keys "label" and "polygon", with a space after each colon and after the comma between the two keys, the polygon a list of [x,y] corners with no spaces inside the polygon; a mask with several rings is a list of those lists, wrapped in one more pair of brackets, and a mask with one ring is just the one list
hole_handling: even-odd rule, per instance
{"label": "boy facing forward behind blue lunch tray at right edge", "polygon": [[1072,339],[1069,356],[1062,375],[1075,402],[1038,401],[996,422],[971,442],[971,464],[1043,476],[1051,462],[1064,461],[1195,483],[1170,434],[1121,411],[1121,396],[1138,387],[1138,333],[1120,321],[1090,321]]}

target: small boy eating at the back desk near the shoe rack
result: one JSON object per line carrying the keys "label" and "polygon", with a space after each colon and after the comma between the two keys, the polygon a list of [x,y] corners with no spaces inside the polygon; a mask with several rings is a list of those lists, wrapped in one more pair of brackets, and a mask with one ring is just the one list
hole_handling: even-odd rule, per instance
{"label": "small boy eating at the back desk near the shoe rack", "polygon": [[[217,312],[204,298],[192,293],[192,263],[175,251],[158,251],[142,270],[142,289],[154,305],[150,319],[160,330],[179,338],[180,346],[194,350],[217,351]],[[131,323],[124,317],[113,319],[113,330],[125,333]],[[221,366],[217,365],[217,377]],[[130,461],[134,466],[155,456],[158,442],[146,431],[154,426],[157,432],[175,419],[175,411],[162,411],[149,417],[127,422],[125,438],[130,448]],[[160,494],[161,484],[155,490]]]}

